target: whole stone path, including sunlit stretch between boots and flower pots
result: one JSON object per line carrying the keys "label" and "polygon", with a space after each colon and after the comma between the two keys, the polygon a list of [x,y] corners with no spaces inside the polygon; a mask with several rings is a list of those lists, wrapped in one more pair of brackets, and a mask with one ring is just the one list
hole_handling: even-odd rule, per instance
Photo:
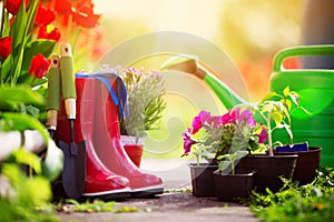
{"label": "whole stone path, including sunlit stretch between boots and flower pots", "polygon": [[[219,202],[215,198],[196,198],[189,192],[177,192],[178,189],[189,186],[190,175],[187,163],[177,164],[174,160],[159,161],[145,160],[141,168],[155,173],[165,182],[165,192],[161,195],[147,199],[128,199],[119,202],[115,208],[132,206],[138,212],[129,213],[58,213],[62,221],[233,221],[255,222],[258,219],[249,209],[239,203]],[[155,169],[155,170],[151,170]]]}

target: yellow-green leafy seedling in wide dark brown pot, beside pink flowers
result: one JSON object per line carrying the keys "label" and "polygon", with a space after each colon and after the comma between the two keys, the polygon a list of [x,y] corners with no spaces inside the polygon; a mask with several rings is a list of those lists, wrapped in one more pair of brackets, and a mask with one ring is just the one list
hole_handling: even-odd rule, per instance
{"label": "yellow-green leafy seedling in wide dark brown pot, beside pink flowers", "polygon": [[[278,98],[278,99],[277,99]],[[291,130],[291,113],[294,109],[303,109],[298,107],[299,95],[295,91],[291,91],[286,87],[283,95],[271,92],[262,101],[252,105],[252,110],[262,120],[268,132],[267,152],[268,154],[247,155],[239,161],[239,168],[254,169],[257,171],[255,178],[255,186],[258,192],[266,192],[268,188],[273,192],[278,191],[283,186],[283,181],[279,176],[292,179],[296,168],[297,154],[274,154],[274,149],[282,145],[279,141],[273,140],[275,130],[284,129],[291,141],[293,133]]]}

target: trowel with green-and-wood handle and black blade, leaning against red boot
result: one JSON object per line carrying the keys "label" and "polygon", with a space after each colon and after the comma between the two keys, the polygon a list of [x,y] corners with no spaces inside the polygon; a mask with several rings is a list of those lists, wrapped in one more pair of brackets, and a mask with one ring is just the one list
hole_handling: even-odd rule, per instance
{"label": "trowel with green-and-wood handle and black blade, leaning against red boot", "polygon": [[60,71],[62,98],[67,119],[69,120],[70,143],[59,141],[59,147],[63,152],[62,185],[66,194],[70,199],[79,199],[85,189],[86,180],[86,144],[85,140],[78,144],[75,141],[75,119],[76,119],[76,83],[73,73],[73,60],[71,48],[68,43],[60,46]]}

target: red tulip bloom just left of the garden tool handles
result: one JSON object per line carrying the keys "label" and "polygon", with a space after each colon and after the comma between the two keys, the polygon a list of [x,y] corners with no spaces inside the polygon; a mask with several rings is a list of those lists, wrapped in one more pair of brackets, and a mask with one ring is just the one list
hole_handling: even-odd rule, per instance
{"label": "red tulip bloom just left of the garden tool handles", "polygon": [[51,60],[46,59],[45,56],[38,53],[32,57],[28,73],[33,77],[41,79],[47,74]]}

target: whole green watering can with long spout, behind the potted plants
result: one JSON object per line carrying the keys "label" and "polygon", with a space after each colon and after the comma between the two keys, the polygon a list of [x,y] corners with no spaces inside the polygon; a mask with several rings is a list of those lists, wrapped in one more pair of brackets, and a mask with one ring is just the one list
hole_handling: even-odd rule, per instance
{"label": "whole green watering can with long spout, behind the potted plants", "polygon": [[[311,147],[322,148],[321,164],[334,167],[334,70],[285,70],[283,61],[288,57],[334,54],[334,46],[304,46],[279,51],[274,58],[271,91],[281,93],[289,85],[302,97],[299,105],[311,114],[296,110],[292,113],[294,142],[307,141]],[[190,56],[174,57],[161,69],[173,69],[195,74],[215,92],[225,108],[248,103],[214,74],[197,65]],[[274,131],[274,140],[289,143],[286,132]]]}

